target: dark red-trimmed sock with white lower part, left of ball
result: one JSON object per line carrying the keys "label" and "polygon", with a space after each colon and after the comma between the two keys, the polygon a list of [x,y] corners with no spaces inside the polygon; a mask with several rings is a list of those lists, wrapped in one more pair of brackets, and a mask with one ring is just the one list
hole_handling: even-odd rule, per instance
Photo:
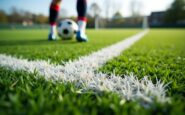
{"label": "dark red-trimmed sock with white lower part, left of ball", "polygon": [[52,35],[57,34],[57,28],[56,28],[56,21],[59,14],[60,5],[59,4],[51,4],[50,6],[50,12],[49,12],[49,23],[50,23],[50,33]]}

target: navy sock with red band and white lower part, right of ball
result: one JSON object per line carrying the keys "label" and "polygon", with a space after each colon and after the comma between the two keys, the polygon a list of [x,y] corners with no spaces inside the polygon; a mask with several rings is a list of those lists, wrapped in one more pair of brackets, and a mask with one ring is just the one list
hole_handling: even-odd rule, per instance
{"label": "navy sock with red band and white lower part, right of ball", "polygon": [[80,32],[85,33],[86,24],[87,24],[87,1],[86,0],[77,0],[77,13],[78,13],[78,29]]}

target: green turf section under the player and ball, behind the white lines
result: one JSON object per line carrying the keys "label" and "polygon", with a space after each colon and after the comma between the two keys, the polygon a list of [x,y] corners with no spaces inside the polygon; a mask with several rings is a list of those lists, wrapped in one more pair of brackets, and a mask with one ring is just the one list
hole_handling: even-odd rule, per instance
{"label": "green turf section under the player and ball, behind the white lines", "polygon": [[47,30],[0,30],[0,53],[29,60],[49,60],[61,64],[82,55],[90,54],[124,38],[140,29],[88,30],[89,42],[47,41]]}

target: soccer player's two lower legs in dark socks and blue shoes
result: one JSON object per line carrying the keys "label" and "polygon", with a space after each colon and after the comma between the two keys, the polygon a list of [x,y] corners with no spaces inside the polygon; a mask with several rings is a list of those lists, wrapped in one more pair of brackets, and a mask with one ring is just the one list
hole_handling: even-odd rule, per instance
{"label": "soccer player's two lower legs in dark socks and blue shoes", "polygon": [[[49,23],[50,23],[50,33],[48,40],[57,39],[57,27],[56,21],[60,10],[60,3],[62,0],[52,0],[49,10]],[[77,0],[77,13],[78,13],[78,27],[79,30],[76,33],[76,40],[79,42],[86,42],[88,40],[85,29],[86,29],[86,12],[87,12],[87,1]]]}

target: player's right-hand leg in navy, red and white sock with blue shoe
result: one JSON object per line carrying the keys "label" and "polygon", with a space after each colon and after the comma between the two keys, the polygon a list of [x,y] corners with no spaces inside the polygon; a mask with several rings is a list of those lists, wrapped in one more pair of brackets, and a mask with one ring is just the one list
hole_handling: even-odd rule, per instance
{"label": "player's right-hand leg in navy, red and white sock with blue shoe", "polygon": [[79,42],[86,42],[88,40],[85,29],[87,24],[87,0],[77,0],[77,13],[78,13],[78,27],[76,39]]}

